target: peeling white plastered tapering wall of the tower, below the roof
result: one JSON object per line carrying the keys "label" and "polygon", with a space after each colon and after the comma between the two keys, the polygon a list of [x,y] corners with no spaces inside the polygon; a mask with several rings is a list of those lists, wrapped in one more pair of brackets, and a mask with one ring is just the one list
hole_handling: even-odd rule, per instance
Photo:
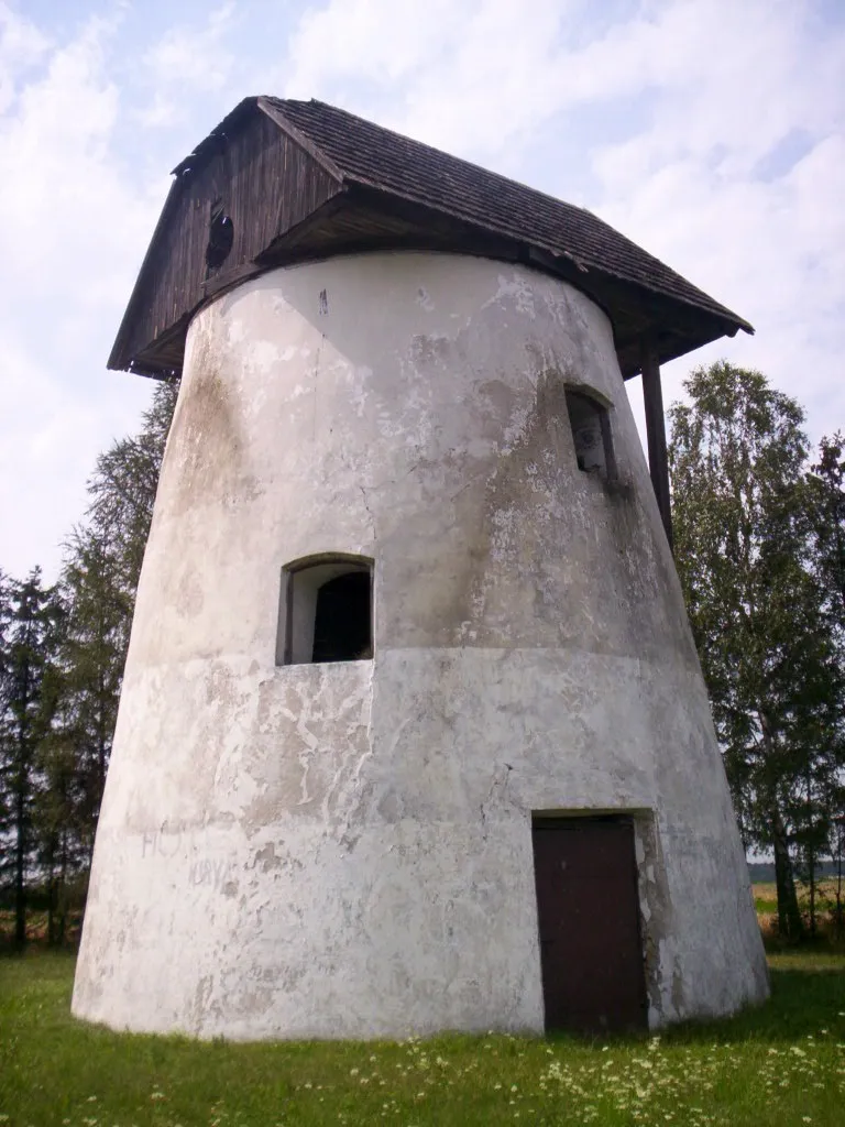
{"label": "peeling white plastered tapering wall of the tower, below the roof", "polygon": [[[576,464],[566,385],[619,477]],[[372,660],[277,666],[284,565],[375,560]],[[203,1037],[543,1029],[532,811],[629,811],[649,1021],[767,992],[611,327],[445,255],[275,270],[188,332],[73,1012]]]}

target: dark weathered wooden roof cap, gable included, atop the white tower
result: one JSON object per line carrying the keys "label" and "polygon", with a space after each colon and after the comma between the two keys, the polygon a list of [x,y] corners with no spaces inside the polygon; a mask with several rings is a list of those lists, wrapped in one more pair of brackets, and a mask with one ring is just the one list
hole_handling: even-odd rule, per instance
{"label": "dark weathered wooden roof cap, gable included, atop the white tower", "polygon": [[[374,249],[521,261],[608,313],[625,378],[751,327],[592,212],[320,101],[247,98],[174,169],[109,367],[179,371],[205,302],[276,266]],[[225,261],[207,256],[230,216]]]}

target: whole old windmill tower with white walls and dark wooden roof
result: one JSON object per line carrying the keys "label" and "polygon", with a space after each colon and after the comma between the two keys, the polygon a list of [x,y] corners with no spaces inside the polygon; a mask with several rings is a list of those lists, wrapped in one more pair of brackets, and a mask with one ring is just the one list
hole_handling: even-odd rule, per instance
{"label": "whole old windmill tower with white walls and dark wooden roof", "polygon": [[659,379],[740,328],[588,212],[330,106],[249,98],[198,145],[109,361],[181,388],[78,1015],[374,1037],[765,997]]}

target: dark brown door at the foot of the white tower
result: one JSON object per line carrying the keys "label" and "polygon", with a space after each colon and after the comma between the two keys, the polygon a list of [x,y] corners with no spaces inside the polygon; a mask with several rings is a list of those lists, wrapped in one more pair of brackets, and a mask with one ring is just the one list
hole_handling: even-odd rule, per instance
{"label": "dark brown door at the foot of the white tower", "polygon": [[533,836],[545,1028],[643,1029],[633,826],[544,820]]}

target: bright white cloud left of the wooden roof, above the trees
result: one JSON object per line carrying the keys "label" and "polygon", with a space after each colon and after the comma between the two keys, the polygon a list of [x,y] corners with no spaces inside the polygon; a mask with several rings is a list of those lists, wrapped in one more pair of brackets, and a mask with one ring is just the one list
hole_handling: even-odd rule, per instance
{"label": "bright white cloud left of the wooden roof, above the trees", "polygon": [[104,437],[149,397],[104,373],[159,206],[110,152],[113,32],[95,19],[42,52],[0,116],[0,559],[18,574],[54,571]]}

